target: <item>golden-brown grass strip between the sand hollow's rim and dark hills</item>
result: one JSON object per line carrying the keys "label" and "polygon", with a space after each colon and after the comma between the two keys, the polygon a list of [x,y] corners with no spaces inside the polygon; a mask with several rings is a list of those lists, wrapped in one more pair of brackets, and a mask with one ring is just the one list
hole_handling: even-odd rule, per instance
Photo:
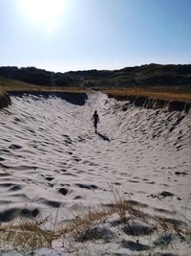
{"label": "golden-brown grass strip between the sand hollow's rim and dark hills", "polygon": [[[168,101],[191,102],[190,87],[181,86],[131,86],[131,87],[95,87],[111,97],[138,96]],[[0,77],[0,91],[18,92],[89,92],[91,88],[81,86],[43,86]]]}

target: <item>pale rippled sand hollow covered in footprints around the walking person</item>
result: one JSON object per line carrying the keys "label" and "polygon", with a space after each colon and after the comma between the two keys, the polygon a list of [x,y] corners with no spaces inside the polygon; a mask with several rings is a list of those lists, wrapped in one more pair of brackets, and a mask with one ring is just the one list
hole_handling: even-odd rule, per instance
{"label": "pale rippled sand hollow covered in footprints around the walking person", "polygon": [[0,221],[46,218],[59,208],[62,222],[111,203],[113,190],[156,214],[176,209],[191,219],[190,116],[130,105],[123,111],[124,102],[98,92],[83,106],[11,101],[0,111]]}

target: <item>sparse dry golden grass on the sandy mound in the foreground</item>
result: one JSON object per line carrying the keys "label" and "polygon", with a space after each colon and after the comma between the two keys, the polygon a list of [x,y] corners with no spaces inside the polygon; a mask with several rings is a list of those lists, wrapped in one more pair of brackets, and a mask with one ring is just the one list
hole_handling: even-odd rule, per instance
{"label": "sparse dry golden grass on the sandy mound in the foreground", "polygon": [[98,210],[89,209],[63,225],[57,224],[57,214],[50,228],[45,228],[47,220],[39,217],[31,221],[20,219],[0,223],[0,248],[25,253],[42,247],[53,248],[53,244],[59,242],[68,251],[75,251],[77,243],[84,247],[86,242],[95,243],[96,240],[115,243],[117,232],[123,232],[129,239],[123,241],[123,245],[121,243],[128,248],[134,245],[137,249],[137,245],[142,244],[143,248],[166,250],[178,239],[180,243],[191,243],[190,225],[173,218],[149,215],[141,206],[144,207],[142,203],[121,198],[115,192],[113,203]]}

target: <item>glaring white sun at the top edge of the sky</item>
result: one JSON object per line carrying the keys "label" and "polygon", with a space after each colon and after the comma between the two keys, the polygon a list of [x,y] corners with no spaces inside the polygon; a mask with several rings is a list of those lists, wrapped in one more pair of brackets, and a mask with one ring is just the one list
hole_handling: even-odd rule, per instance
{"label": "glaring white sun at the top edge of the sky", "polygon": [[65,0],[20,0],[25,15],[38,25],[53,27],[62,13]]}

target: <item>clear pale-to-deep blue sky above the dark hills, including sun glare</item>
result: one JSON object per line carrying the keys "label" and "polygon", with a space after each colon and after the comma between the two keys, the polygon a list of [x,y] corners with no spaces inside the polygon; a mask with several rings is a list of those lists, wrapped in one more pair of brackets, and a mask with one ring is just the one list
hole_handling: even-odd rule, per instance
{"label": "clear pale-to-deep blue sky above the dark hills, including sun glare", "polygon": [[0,66],[191,63],[191,0],[0,0]]}

